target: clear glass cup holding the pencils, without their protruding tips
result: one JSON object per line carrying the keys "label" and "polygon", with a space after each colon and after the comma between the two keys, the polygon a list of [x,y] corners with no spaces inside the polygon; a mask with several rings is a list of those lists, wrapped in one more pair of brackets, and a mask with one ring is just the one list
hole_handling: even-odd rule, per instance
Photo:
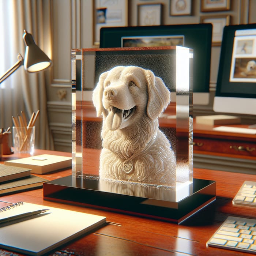
{"label": "clear glass cup holding the pencils, without their protruding tips", "polygon": [[35,127],[12,127],[14,153],[34,153]]}

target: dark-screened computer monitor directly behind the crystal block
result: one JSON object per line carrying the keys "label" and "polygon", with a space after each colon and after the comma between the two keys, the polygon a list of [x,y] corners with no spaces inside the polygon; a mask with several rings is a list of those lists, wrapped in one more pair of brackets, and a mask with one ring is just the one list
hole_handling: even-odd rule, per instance
{"label": "dark-screened computer monitor directly behind the crystal block", "polygon": [[211,39],[211,24],[103,27],[99,46],[113,48],[181,45],[192,48],[193,104],[207,105],[210,96]]}

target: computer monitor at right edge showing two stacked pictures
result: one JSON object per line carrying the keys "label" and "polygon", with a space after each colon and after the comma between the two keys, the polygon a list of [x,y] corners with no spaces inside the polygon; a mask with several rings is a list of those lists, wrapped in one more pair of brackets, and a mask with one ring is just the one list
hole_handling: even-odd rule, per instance
{"label": "computer monitor at right edge showing two stacked pictures", "polygon": [[224,27],[213,110],[256,115],[256,24]]}

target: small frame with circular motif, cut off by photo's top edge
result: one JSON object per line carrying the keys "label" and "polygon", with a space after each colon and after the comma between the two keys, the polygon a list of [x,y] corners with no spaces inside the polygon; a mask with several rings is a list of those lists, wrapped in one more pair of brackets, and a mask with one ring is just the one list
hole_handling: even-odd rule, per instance
{"label": "small frame with circular motif, cut off by photo's top edge", "polygon": [[170,15],[191,15],[191,0],[170,0]]}

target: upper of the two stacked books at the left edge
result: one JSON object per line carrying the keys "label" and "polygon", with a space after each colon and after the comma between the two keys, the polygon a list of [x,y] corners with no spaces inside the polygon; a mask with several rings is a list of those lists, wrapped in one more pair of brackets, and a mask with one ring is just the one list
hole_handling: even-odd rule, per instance
{"label": "upper of the two stacked books at the left edge", "polygon": [[6,166],[0,163],[0,183],[30,176],[28,168]]}

